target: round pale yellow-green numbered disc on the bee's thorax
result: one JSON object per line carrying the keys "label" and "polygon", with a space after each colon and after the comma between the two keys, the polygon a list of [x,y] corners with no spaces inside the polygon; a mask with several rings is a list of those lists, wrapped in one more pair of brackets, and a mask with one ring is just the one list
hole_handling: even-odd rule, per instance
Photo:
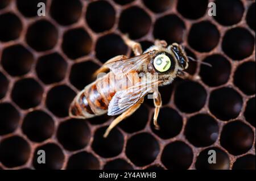
{"label": "round pale yellow-green numbered disc on the bee's thorax", "polygon": [[154,67],[160,72],[167,71],[171,67],[171,60],[165,54],[159,54],[154,59]]}

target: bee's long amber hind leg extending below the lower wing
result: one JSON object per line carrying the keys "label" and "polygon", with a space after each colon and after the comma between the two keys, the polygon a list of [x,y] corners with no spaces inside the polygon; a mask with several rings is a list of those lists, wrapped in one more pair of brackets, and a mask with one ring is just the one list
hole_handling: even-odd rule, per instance
{"label": "bee's long amber hind leg extending below the lower wing", "polygon": [[133,107],[130,107],[127,111],[123,112],[121,115],[119,115],[108,127],[108,129],[106,129],[106,132],[104,134],[104,137],[108,137],[110,131],[112,131],[112,129],[118,124],[120,123],[123,119],[126,119],[126,117],[129,117],[130,115],[132,115],[136,110],[138,110],[138,108],[141,106],[141,104],[143,103],[143,99],[140,100],[138,103],[134,104]]}

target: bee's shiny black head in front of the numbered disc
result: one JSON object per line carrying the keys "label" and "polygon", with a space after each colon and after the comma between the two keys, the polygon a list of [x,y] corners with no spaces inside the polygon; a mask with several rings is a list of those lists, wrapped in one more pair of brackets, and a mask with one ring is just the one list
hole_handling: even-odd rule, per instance
{"label": "bee's shiny black head in front of the numbered disc", "polygon": [[187,69],[188,68],[188,57],[185,53],[185,50],[183,47],[181,47],[179,44],[174,43],[168,47],[168,49],[174,54],[174,57],[176,58],[179,66],[181,69]]}

